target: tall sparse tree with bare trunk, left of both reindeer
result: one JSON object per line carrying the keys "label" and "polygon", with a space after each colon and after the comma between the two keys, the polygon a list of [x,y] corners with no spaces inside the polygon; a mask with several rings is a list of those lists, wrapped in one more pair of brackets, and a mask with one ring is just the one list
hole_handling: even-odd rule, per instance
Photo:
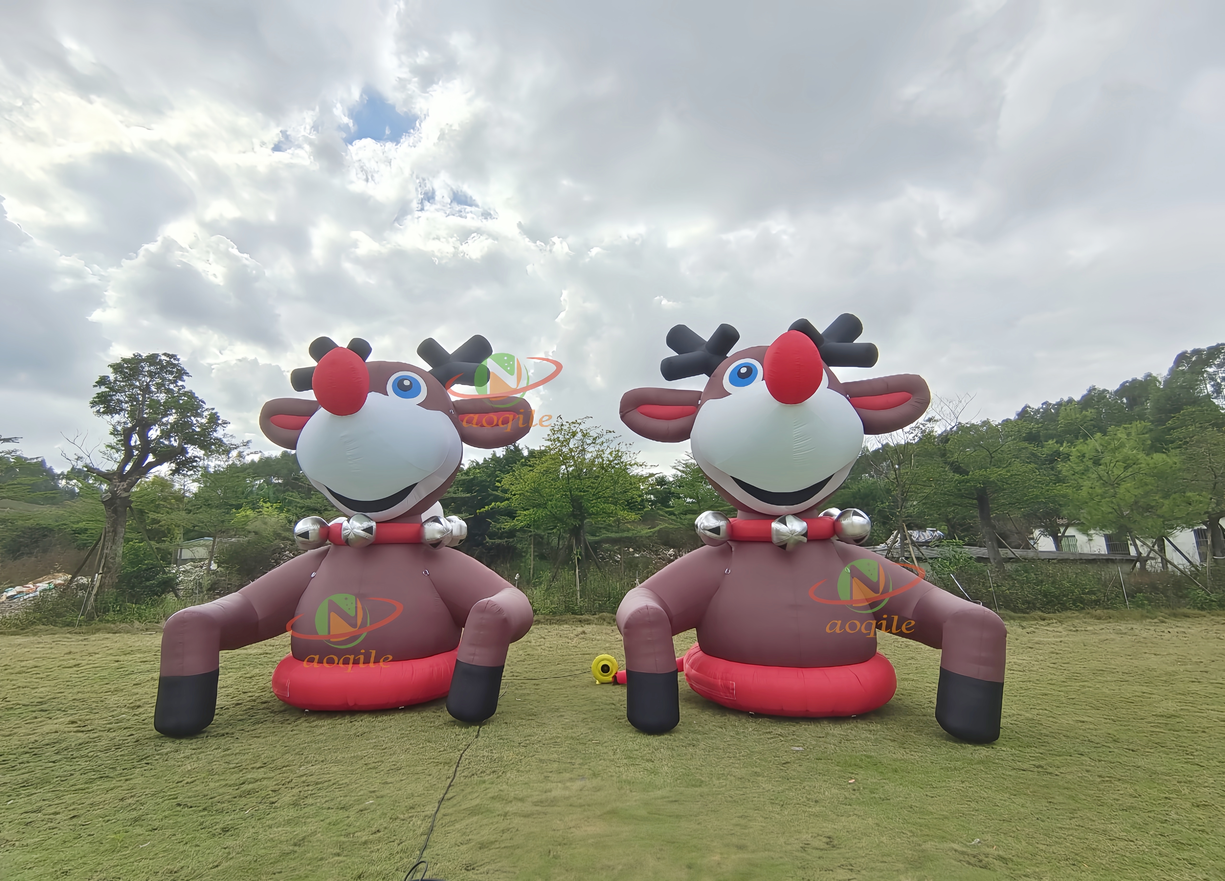
{"label": "tall sparse tree with bare trunk, left of both reindeer", "polygon": [[102,573],[87,600],[115,587],[124,554],[127,513],[136,485],[156,469],[169,475],[191,474],[205,459],[224,456],[235,445],[224,436],[225,420],[206,407],[185,380],[190,374],[179,357],[134,354],[110,365],[110,374],[93,384],[89,407],[110,426],[104,447],[108,462],[96,464],[82,455],[78,464],[103,482]]}

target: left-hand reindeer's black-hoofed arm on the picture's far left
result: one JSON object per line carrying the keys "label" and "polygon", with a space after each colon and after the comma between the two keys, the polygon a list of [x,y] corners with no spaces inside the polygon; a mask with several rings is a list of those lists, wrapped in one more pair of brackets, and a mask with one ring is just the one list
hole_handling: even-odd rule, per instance
{"label": "left-hand reindeer's black-hoofed arm on the picture's far left", "polygon": [[172,738],[198,734],[217,711],[221,651],[285,632],[311,573],[327,554],[320,548],[277,566],[238,593],[176,611],[162,629],[162,670],[153,727]]}

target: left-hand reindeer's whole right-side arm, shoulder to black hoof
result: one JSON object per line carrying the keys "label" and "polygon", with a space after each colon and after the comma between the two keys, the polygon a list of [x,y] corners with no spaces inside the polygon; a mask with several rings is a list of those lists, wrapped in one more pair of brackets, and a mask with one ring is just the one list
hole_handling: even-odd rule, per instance
{"label": "left-hand reindeer's whole right-side arm, shoulder to black hoof", "polygon": [[467,554],[440,548],[428,559],[430,581],[463,627],[447,712],[463,722],[484,722],[497,709],[507,649],[532,629],[532,604]]}

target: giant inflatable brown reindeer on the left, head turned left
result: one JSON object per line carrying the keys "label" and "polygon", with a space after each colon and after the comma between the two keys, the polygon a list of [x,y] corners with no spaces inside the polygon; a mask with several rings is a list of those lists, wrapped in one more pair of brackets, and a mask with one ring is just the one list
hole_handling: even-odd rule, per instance
{"label": "giant inflatable brown reindeer on the left, head turned left", "polygon": [[466,534],[437,500],[454,479],[463,445],[494,448],[523,437],[532,409],[522,398],[452,401],[452,384],[474,384],[491,348],[473,337],[454,353],[426,339],[426,371],[368,361],[370,344],[310,346],[317,361],[290,375],[315,399],[263,406],[268,440],[298,451],[310,482],[348,515],[309,517],[295,528],[312,548],[238,593],[176,613],[162,636],[153,727],[170,736],[213,719],[221,649],[287,630],[290,654],[273,692],[304,709],[383,709],[447,696],[457,719],[497,708],[511,642],[532,626],[518,589],[452,550]]}

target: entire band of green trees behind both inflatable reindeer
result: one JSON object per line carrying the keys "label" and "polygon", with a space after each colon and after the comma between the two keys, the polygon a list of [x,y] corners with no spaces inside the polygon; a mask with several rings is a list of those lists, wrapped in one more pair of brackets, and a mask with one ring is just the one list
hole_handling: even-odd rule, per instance
{"label": "entire band of green trees behind both inflatable reindeer", "polygon": [[[0,437],[6,570],[85,553],[88,611],[96,599],[179,593],[175,549],[207,538],[192,577],[217,594],[295,554],[299,518],[338,516],[293,453],[255,455],[228,437],[187,379],[168,353],[111,364],[91,399],[107,444],[77,447],[64,471]],[[968,404],[937,399],[924,422],[865,448],[828,504],[867,511],[873,544],[935,527],[954,545],[986,548],[996,567],[1039,535],[1063,546],[1071,529],[1126,537],[1138,555],[1191,577],[1194,564],[1169,553],[1172,532],[1203,527],[1213,553],[1225,554],[1225,344],[1181,353],[1164,376],[1027,406],[1011,419],[965,419]],[[463,550],[527,589],[577,596],[601,578],[624,592],[697,546],[698,513],[731,512],[692,458],[652,471],[587,417],[555,419],[533,448],[468,463],[442,505],[468,522]]]}

